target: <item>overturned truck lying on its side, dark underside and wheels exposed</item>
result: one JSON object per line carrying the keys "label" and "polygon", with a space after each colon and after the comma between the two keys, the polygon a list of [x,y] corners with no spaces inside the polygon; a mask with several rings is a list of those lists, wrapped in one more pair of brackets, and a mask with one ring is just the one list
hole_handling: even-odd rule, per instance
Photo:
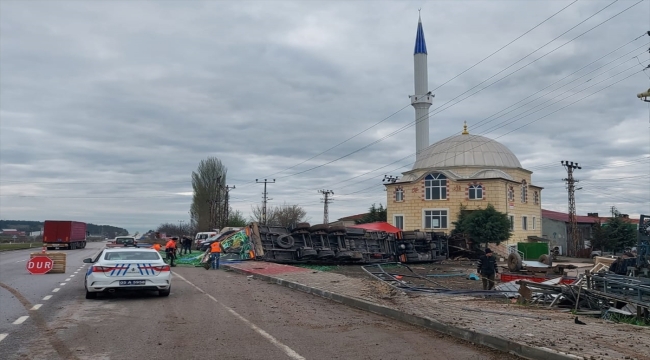
{"label": "overturned truck lying on its side, dark underside and wheels exposed", "polygon": [[294,228],[251,224],[246,231],[255,258],[278,263],[369,264],[433,262],[448,256],[444,234],[389,233],[327,224],[299,223]]}

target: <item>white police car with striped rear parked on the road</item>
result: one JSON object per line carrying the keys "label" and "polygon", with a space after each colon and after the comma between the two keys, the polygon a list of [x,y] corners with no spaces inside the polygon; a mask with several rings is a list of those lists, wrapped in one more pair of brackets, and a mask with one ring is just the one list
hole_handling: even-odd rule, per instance
{"label": "white police car with striped rear parked on the road", "polygon": [[171,270],[154,249],[107,248],[94,259],[86,271],[84,285],[86,299],[94,299],[100,292],[158,291],[169,296]]}

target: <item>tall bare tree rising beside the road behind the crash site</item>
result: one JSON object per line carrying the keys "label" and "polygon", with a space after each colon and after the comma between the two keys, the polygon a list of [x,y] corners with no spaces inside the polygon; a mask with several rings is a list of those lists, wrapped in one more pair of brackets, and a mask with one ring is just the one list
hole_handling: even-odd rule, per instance
{"label": "tall bare tree rising beside the road behind the crash site", "polygon": [[225,184],[228,170],[216,157],[201,160],[192,172],[194,197],[190,208],[192,224],[197,231],[220,229],[227,222]]}

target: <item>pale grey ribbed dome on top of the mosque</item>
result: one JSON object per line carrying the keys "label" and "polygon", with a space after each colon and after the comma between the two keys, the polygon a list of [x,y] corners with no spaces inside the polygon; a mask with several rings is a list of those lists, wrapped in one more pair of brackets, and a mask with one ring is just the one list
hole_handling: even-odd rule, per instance
{"label": "pale grey ribbed dome on top of the mosque", "polygon": [[451,166],[521,168],[521,163],[503,144],[470,135],[465,126],[461,135],[450,136],[422,150],[413,170]]}

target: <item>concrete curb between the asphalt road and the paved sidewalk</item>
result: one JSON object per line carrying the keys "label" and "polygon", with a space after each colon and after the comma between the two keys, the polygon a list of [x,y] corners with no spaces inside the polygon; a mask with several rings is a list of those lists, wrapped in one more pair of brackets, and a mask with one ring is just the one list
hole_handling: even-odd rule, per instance
{"label": "concrete curb between the asphalt road and the paved sidewalk", "polygon": [[503,351],[506,353],[511,353],[515,354],[517,356],[521,356],[526,359],[532,359],[532,360],[576,360],[576,359],[583,359],[582,357],[571,355],[571,354],[566,354],[563,352],[558,352],[553,349],[548,349],[548,348],[541,348],[541,347],[534,347],[534,346],[529,346],[529,345],[524,345],[517,343],[512,340],[504,339],[502,337],[496,336],[496,335],[490,335],[486,333],[481,333],[481,332],[476,332],[472,330],[467,330],[455,326],[451,326],[442,322],[439,322],[434,319],[430,319],[427,317],[421,317],[421,316],[416,316],[416,315],[411,315],[407,314],[404,312],[401,312],[399,310],[391,309],[385,306],[377,305],[365,300],[361,299],[356,299],[353,297],[349,296],[343,296],[339,294],[335,294],[329,291],[313,288],[307,285],[302,285],[299,283],[287,281],[284,279],[268,276],[268,275],[261,275],[261,274],[256,274],[254,272],[250,272],[247,270],[243,269],[238,269],[235,267],[231,267],[229,265],[221,265],[223,268],[227,270],[231,270],[233,272],[236,272],[238,274],[243,274],[243,275],[248,275],[248,276],[253,276],[254,279],[259,279],[259,280],[264,280],[268,282],[272,282],[290,289],[302,291],[308,294],[313,294],[316,296],[320,296],[338,303],[341,303],[343,305],[347,305],[353,308],[357,308],[360,310],[365,310],[374,314],[382,315],[394,320],[398,320],[401,322],[405,322],[407,324],[411,325],[417,325],[417,326],[422,326],[427,329],[431,329],[437,332],[441,332],[443,334],[447,334],[450,336],[453,336],[458,339],[462,339],[465,341],[469,341],[471,343],[475,344],[480,344],[484,345],[487,347],[490,347],[492,349],[496,349],[499,351]]}

